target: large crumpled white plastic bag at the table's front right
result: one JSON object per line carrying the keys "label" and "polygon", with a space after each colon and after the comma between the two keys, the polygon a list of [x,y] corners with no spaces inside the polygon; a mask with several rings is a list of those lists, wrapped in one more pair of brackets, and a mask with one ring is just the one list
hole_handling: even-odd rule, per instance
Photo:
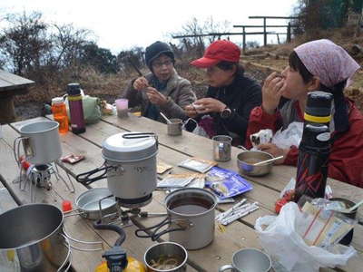
{"label": "large crumpled white plastic bag at the table's front right", "polygon": [[[341,245],[329,248],[309,247],[296,231],[302,213],[294,202],[284,205],[279,216],[265,216],[256,220],[260,244],[273,260],[286,271],[319,272],[319,267],[345,266],[357,251]],[[267,226],[267,228],[262,228]]]}

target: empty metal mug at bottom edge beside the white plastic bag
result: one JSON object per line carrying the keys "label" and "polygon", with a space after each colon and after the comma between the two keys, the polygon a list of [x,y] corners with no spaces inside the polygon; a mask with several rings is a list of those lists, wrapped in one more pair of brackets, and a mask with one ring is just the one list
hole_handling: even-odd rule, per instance
{"label": "empty metal mug at bottom edge beside the white plastic bag", "polygon": [[233,254],[232,264],[223,266],[219,272],[230,269],[233,272],[268,272],[270,257],[257,248],[243,248]]}

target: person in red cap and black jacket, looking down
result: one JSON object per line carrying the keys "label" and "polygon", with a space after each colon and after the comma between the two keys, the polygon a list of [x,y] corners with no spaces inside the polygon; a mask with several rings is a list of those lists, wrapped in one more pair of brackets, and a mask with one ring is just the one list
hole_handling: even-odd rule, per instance
{"label": "person in red cap and black jacket, looking down", "polygon": [[236,44],[225,40],[212,43],[203,57],[191,62],[207,70],[210,86],[206,98],[185,107],[191,118],[209,114],[211,128],[204,128],[209,136],[230,135],[233,144],[244,142],[250,111],[261,104],[260,85],[244,75],[239,62]]}

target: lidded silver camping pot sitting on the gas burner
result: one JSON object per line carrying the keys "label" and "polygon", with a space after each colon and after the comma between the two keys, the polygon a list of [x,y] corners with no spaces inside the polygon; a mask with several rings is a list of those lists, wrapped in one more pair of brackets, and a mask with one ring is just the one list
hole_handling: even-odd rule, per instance
{"label": "lidded silver camping pot sitting on the gas burner", "polygon": [[[154,133],[123,132],[103,141],[103,167],[82,173],[76,180],[88,185],[107,177],[108,189],[123,206],[146,205],[156,189],[157,136]],[[101,172],[99,176],[93,177]]]}

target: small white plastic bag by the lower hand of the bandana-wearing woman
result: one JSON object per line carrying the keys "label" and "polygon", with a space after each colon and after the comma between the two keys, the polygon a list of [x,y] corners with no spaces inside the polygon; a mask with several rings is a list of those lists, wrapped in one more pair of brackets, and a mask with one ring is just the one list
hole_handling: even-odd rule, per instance
{"label": "small white plastic bag by the lower hand of the bandana-wearing woman", "polygon": [[280,147],[280,149],[289,149],[292,145],[299,146],[303,129],[303,122],[293,121],[286,130],[281,131],[281,129],[280,131],[276,131],[271,142]]}

